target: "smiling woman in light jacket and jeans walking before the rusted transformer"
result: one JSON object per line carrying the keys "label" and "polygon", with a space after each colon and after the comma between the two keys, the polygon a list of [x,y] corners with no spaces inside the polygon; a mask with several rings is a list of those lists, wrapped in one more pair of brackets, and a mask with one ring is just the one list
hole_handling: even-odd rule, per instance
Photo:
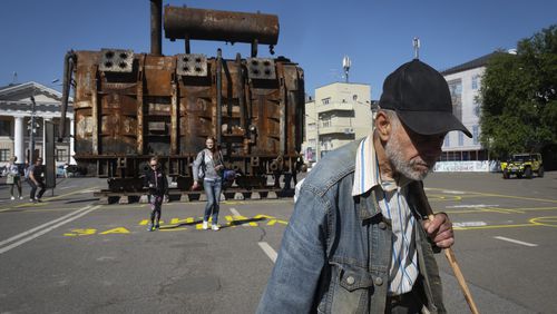
{"label": "smiling woman in light jacket and jeans walking before the rusted transformer", "polygon": [[215,139],[208,137],[205,140],[205,148],[197,154],[193,164],[194,185],[192,189],[199,188],[203,183],[207,204],[203,215],[203,229],[208,228],[211,217],[211,228],[218,230],[218,209],[221,204],[221,190],[223,188],[222,173],[224,170],[223,155],[216,147]]}

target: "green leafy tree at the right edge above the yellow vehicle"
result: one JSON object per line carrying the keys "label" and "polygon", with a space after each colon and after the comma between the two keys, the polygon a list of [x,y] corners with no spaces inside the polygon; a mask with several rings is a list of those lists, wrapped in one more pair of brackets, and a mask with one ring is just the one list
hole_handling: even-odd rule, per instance
{"label": "green leafy tree at the right edge above the yellow vehicle", "polygon": [[480,89],[483,147],[506,157],[557,143],[557,24],[490,58]]}

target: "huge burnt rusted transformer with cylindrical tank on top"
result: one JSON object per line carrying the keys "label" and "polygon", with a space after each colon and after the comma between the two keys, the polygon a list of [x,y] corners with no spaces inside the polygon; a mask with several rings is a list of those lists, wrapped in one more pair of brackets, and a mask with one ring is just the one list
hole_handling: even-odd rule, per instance
{"label": "huge burnt rusted transformer with cylindrical tank on top", "polygon": [[[69,51],[62,118],[74,85],[75,159],[107,177],[109,190],[141,189],[146,161],[159,156],[176,187],[187,190],[192,163],[216,138],[237,186],[266,188],[267,177],[295,175],[301,165],[304,75],[284,57],[260,58],[258,45],[278,38],[278,19],[165,7],[165,35],[184,39],[185,53],[162,55],[162,1],[152,0],[152,51]],[[189,40],[251,43],[250,58],[192,53]],[[60,138],[65,136],[60,125]],[[278,179],[271,187],[277,187]]]}

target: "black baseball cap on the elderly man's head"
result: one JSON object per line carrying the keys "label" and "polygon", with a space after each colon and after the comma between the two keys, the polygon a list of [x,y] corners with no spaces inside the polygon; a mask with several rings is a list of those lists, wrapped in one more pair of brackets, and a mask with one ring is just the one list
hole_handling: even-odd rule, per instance
{"label": "black baseball cap on the elderly man's head", "polygon": [[472,137],[452,115],[451,95],[443,76],[418,59],[400,66],[387,77],[379,107],[397,111],[404,126],[417,134],[460,130]]}

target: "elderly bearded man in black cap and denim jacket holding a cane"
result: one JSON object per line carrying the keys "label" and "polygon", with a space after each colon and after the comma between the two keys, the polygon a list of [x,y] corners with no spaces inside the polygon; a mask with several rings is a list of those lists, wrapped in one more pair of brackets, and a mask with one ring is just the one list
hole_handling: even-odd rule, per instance
{"label": "elderly bearded man in black cap and denim jacket holding a cane", "polygon": [[301,187],[257,313],[444,313],[433,252],[446,214],[418,195],[450,130],[444,78],[414,59],[384,81],[371,135],[323,158]]}

